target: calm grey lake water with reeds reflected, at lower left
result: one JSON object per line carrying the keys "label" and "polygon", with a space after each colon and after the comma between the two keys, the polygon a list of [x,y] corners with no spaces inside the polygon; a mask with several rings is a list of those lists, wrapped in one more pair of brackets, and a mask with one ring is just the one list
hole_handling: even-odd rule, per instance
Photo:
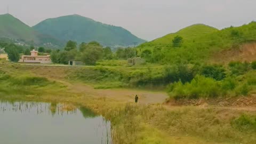
{"label": "calm grey lake water with reeds reflected, at lower left", "polygon": [[90,109],[57,103],[1,102],[0,143],[111,143],[110,122]]}

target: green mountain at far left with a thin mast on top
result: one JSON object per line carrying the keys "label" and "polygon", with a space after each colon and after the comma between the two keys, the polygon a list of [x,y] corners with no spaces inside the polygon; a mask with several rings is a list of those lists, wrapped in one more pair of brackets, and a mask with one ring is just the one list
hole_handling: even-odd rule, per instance
{"label": "green mountain at far left with a thin mast on top", "polygon": [[0,15],[0,38],[17,39],[36,45],[43,45],[44,43],[63,45],[63,42],[57,38],[38,33],[11,14]]}

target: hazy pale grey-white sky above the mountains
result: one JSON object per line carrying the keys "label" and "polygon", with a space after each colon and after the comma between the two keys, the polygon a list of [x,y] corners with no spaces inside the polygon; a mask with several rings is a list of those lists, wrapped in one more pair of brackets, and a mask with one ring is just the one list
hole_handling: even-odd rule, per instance
{"label": "hazy pale grey-white sky above the mountains", "polygon": [[7,5],[10,14],[29,26],[79,14],[147,40],[195,23],[221,29],[256,20],[255,0],[0,0],[0,14]]}

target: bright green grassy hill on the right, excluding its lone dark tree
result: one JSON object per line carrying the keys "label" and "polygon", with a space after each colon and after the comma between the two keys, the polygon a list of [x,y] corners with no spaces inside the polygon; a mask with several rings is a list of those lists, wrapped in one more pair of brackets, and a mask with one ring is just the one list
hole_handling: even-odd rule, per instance
{"label": "bright green grassy hill on the right, excluding its lone dark tree", "polygon": [[[172,40],[181,36],[183,43],[174,47]],[[215,53],[223,50],[239,48],[245,43],[256,40],[256,22],[241,27],[229,27],[222,30],[205,26],[193,25],[181,29],[154,41],[138,46],[139,53],[150,50],[148,57],[151,62],[162,63],[197,63],[209,61]]]}

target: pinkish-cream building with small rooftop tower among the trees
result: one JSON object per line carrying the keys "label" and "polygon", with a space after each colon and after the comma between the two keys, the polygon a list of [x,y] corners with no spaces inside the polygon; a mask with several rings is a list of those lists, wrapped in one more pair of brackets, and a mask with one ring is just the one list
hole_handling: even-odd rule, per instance
{"label": "pinkish-cream building with small rooftop tower among the trees", "polygon": [[30,55],[22,55],[19,62],[51,63],[50,55],[38,55],[38,51],[30,51]]}

